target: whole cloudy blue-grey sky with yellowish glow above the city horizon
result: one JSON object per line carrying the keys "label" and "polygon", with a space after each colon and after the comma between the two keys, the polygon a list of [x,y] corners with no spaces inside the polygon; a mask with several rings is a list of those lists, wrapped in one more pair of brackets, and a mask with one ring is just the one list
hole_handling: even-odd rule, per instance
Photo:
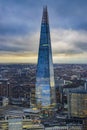
{"label": "whole cloudy blue-grey sky with yellowish glow above the city horizon", "polygon": [[87,0],[0,0],[0,63],[37,63],[44,5],[54,63],[87,63]]}

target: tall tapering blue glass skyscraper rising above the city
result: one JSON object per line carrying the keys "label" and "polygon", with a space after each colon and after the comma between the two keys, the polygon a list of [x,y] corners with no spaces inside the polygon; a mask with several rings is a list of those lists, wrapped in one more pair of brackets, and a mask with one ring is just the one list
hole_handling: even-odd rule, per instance
{"label": "tall tapering blue glass skyscraper rising above the city", "polygon": [[47,7],[43,8],[35,88],[37,106],[55,106],[55,83]]}

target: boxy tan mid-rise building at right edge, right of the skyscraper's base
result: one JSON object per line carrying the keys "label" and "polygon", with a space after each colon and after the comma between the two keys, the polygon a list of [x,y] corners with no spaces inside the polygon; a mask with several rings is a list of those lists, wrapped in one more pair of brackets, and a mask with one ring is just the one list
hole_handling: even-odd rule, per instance
{"label": "boxy tan mid-rise building at right edge, right of the skyscraper's base", "polygon": [[87,91],[72,90],[68,95],[68,115],[70,117],[87,117]]}

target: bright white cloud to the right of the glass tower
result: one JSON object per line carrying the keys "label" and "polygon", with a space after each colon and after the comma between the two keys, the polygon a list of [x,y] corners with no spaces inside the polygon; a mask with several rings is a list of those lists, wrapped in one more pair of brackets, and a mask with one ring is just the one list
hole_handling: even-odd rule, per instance
{"label": "bright white cloud to the right of the glass tower", "polygon": [[55,29],[51,33],[53,53],[78,54],[84,53],[81,44],[87,44],[87,31]]}

